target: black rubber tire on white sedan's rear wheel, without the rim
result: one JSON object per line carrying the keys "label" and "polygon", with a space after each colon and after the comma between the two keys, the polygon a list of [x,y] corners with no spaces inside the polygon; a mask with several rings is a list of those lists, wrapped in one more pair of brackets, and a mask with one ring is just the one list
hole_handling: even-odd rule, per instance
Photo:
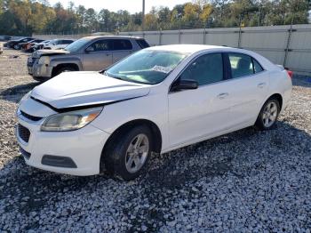
{"label": "black rubber tire on white sedan's rear wheel, without the rim", "polygon": [[[265,124],[265,119],[264,119],[264,115],[265,115],[265,110],[269,107],[269,105],[274,105],[276,107],[276,116],[275,116],[275,120],[271,121],[270,124]],[[257,117],[256,123],[255,123],[255,127],[259,130],[269,130],[272,129],[275,126],[275,123],[277,121],[277,117],[280,114],[280,103],[279,100],[277,100],[276,98],[270,98],[268,99],[264,105],[262,106],[260,112],[259,112],[259,116]],[[267,118],[267,117],[265,117]]]}

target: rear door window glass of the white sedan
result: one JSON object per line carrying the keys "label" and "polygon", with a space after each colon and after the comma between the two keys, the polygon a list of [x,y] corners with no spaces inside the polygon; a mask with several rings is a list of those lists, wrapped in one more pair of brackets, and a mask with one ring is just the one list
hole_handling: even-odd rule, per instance
{"label": "rear door window glass of the white sedan", "polygon": [[232,77],[251,76],[263,71],[259,62],[242,53],[228,53]]}

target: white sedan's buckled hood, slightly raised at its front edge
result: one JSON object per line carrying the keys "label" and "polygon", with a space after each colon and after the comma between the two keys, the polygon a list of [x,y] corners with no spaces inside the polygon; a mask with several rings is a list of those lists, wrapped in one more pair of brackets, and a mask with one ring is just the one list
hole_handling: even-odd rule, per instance
{"label": "white sedan's buckled hood, slightly raised at its front edge", "polygon": [[36,86],[31,98],[56,111],[111,104],[148,95],[150,85],[125,82],[99,72],[64,72]]}

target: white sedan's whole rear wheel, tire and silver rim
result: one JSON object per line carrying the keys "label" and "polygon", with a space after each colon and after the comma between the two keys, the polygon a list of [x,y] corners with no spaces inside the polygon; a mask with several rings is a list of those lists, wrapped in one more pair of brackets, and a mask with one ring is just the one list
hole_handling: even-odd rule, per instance
{"label": "white sedan's whole rear wheel, tire and silver rim", "polygon": [[271,129],[280,113],[280,103],[275,98],[267,100],[259,112],[255,126],[259,130]]}

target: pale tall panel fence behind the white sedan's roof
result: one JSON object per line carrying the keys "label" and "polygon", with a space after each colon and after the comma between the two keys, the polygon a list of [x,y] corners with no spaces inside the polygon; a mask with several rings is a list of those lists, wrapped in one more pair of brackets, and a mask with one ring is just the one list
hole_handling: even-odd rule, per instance
{"label": "pale tall panel fence behind the white sedan's roof", "polygon": [[258,52],[291,70],[311,74],[311,25],[253,28],[202,28],[145,32],[121,32],[141,36],[151,45],[214,44]]}

